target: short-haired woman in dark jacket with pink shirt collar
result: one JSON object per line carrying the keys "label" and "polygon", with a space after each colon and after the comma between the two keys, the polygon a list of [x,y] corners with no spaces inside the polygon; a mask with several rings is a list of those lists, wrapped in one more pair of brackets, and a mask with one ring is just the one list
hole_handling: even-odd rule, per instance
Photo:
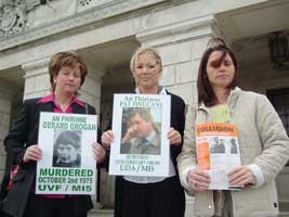
{"label": "short-haired woman in dark jacket with pink shirt collar", "polygon": [[[86,64],[77,54],[56,53],[49,63],[53,92],[24,102],[17,120],[4,140],[13,164],[19,165],[3,203],[6,214],[13,217],[86,217],[92,208],[89,195],[35,194],[36,163],[45,154],[37,144],[40,112],[95,114],[94,107],[77,98],[87,73]],[[93,154],[101,163],[105,158],[105,150],[96,142],[91,143]]]}

